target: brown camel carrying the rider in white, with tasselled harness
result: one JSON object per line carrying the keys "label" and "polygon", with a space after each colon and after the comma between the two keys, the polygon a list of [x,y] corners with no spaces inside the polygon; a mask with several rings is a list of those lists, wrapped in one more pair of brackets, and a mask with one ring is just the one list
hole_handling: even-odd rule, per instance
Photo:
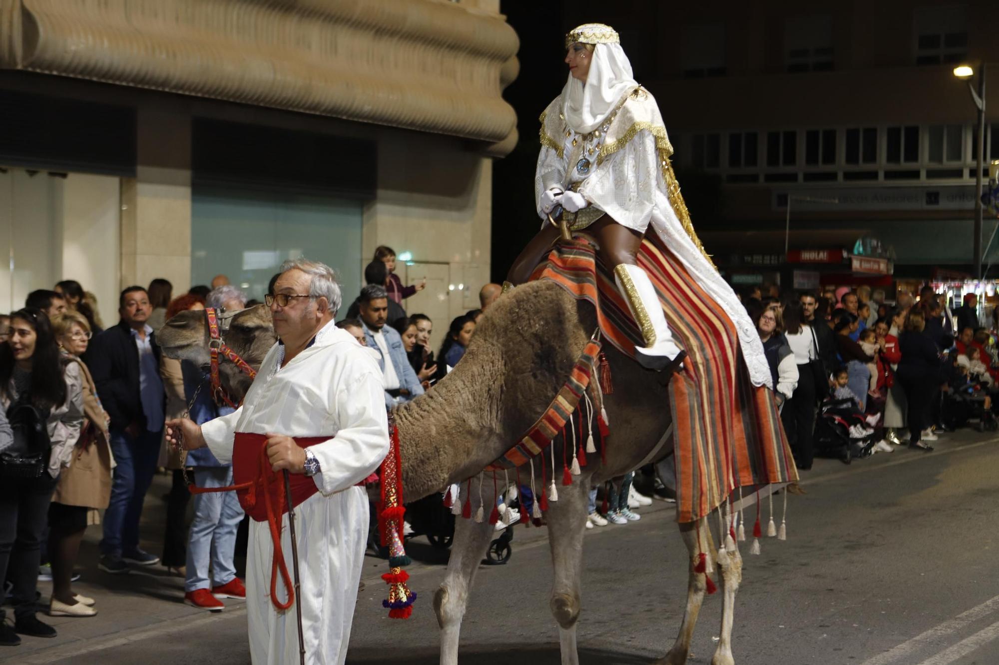
{"label": "brown camel carrying the rider in white, with tasselled harness", "polygon": [[[451,483],[471,477],[476,510],[480,504],[478,474],[547,408],[595,328],[589,305],[547,281],[517,287],[491,306],[455,370],[425,395],[396,410],[407,500],[443,492]],[[207,364],[207,329],[203,313],[184,312],[171,319],[157,339],[168,356]],[[225,341],[250,364],[259,366],[275,341],[268,310],[258,306],[237,313]],[[554,572],[549,607],[558,624],[562,665],[578,663],[576,626],[587,492],[595,483],[649,461],[671,417],[665,403],[667,392],[656,372],[642,368],[609,344],[604,345],[604,352],[613,379],[613,392],[604,398],[611,427],[606,462],[600,464],[598,457],[590,457],[592,461],[581,475],[573,476],[571,485],[558,486],[558,500],[549,501],[544,514]],[[250,380],[227,361],[221,365],[221,376],[234,398],[249,388]],[[560,447],[557,444],[555,455],[560,454]],[[668,452],[660,450],[656,458]],[[526,467],[520,469],[521,475],[528,472]],[[491,485],[483,488],[484,502],[493,497]],[[469,483],[462,485],[463,502],[468,487]],[[488,504],[487,514],[491,508]],[[656,662],[686,662],[705,593],[705,575],[694,569],[698,555],[704,553],[708,570],[716,565],[720,571],[723,592],[720,639],[711,663],[733,665],[732,612],[741,581],[741,557],[734,547],[731,553],[724,553],[722,547],[715,555],[704,518],[678,527],[690,554],[686,609],[672,648]],[[493,534],[488,520],[458,520],[447,575],[434,596],[442,631],[442,665],[458,664],[462,619]]]}

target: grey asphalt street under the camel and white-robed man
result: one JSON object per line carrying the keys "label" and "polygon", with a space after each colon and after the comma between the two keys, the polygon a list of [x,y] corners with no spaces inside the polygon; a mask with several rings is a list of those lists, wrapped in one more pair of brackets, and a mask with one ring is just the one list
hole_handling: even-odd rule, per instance
{"label": "grey asphalt street under the camel and white-robed man", "polygon": [[[846,466],[816,460],[804,496],[790,496],[788,539],[740,543],[744,570],[733,651],[740,665],[972,665],[999,663],[999,439],[971,430],[941,436],[930,453],[898,448]],[[158,552],[167,478],[147,499],[146,546]],[[774,501],[779,515],[779,502]],[[765,506],[765,501],[764,501]],[[679,627],[686,554],[672,504],[642,519],[586,532],[580,662],[648,663]],[[766,513],[764,511],[764,526]],[[747,519],[752,521],[750,513]],[[246,610],[226,601],[210,615],[182,604],[183,580],[159,566],[114,577],[99,572],[91,528],[79,592],[98,600],[94,618],[52,618],[59,636],[24,638],[0,662],[229,665],[249,663]],[[462,631],[461,660],[477,665],[558,663],[548,609],[551,563],[543,529],[516,527],[512,558],[483,566]],[[447,553],[423,537],[413,618],[382,608],[386,564],[369,558],[358,599],[349,665],[438,662],[433,594]],[[49,587],[40,584],[43,595]],[[688,662],[710,663],[721,594],[704,603]]]}

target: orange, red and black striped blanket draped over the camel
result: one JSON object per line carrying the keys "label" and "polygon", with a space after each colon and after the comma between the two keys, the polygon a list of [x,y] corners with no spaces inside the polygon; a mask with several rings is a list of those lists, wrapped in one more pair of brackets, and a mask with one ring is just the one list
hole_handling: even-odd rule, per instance
{"label": "orange, red and black striped blanket draped over the camel", "polygon": [[[749,381],[731,320],[653,235],[642,242],[638,265],[687,352],[668,387],[677,519],[709,514],[736,487],[797,480],[773,392]],[[585,240],[560,242],[531,280],[551,280],[592,304],[604,340],[625,355],[644,343],[613,275]]]}

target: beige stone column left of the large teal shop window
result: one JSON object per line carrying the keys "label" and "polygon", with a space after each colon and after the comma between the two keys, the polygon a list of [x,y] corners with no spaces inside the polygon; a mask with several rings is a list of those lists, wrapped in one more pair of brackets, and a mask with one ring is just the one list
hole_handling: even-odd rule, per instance
{"label": "beige stone column left of the large teal shop window", "polygon": [[122,179],[121,286],[164,278],[183,294],[191,288],[191,118],[138,113],[137,174]]}

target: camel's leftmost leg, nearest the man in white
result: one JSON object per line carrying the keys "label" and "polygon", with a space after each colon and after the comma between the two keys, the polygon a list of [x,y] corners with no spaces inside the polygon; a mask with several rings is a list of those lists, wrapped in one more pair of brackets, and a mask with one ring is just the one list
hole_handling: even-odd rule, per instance
{"label": "camel's leftmost leg, nearest the man in white", "polygon": [[[479,507],[479,488],[473,483],[472,510]],[[463,488],[463,491],[465,489]],[[490,488],[489,497],[492,498]],[[487,504],[489,499],[484,494]],[[465,494],[461,496],[465,500]],[[489,514],[486,510],[486,514]],[[511,527],[510,527],[511,528]],[[434,594],[434,611],[441,626],[441,665],[458,665],[458,642],[462,630],[462,618],[469,604],[469,591],[479,570],[479,563],[486,556],[496,534],[496,526],[485,520],[482,524],[459,515],[455,522],[455,540],[448,559],[448,573]]]}

